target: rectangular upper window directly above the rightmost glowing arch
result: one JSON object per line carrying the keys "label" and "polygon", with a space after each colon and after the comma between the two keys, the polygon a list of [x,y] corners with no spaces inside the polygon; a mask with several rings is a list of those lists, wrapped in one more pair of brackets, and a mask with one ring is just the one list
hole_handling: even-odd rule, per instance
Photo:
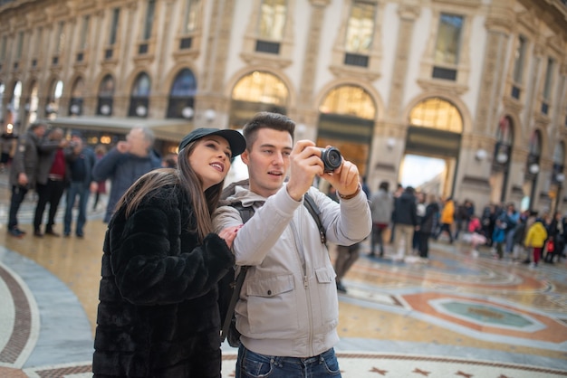
{"label": "rectangular upper window directly above the rightmost glowing arch", "polygon": [[463,17],[455,14],[441,14],[437,43],[435,46],[435,62],[456,65],[463,30]]}

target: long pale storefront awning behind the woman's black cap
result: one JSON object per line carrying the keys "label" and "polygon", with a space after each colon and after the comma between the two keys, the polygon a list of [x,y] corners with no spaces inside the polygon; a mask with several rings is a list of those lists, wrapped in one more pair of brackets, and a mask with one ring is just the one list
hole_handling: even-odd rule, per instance
{"label": "long pale storefront awning behind the woman's black cap", "polygon": [[131,128],[150,128],[157,139],[178,143],[193,129],[193,122],[184,119],[59,117],[47,121],[53,127],[128,134]]}

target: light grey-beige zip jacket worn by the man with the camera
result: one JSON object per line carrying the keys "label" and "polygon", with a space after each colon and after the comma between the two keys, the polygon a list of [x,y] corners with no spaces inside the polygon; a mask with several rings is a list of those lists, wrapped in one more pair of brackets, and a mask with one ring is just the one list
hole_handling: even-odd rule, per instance
{"label": "light grey-beige zip jacket worn by the man with the camera", "polygon": [[[370,208],[362,191],[335,203],[309,189],[321,211],[327,240],[341,245],[362,241],[371,231]],[[255,215],[238,231],[236,265],[249,265],[236,304],[236,328],[246,348],[260,354],[310,357],[339,341],[335,273],[319,229],[302,202],[283,186],[264,198],[236,186],[229,203],[254,206]],[[242,224],[233,206],[213,214],[216,231]]]}

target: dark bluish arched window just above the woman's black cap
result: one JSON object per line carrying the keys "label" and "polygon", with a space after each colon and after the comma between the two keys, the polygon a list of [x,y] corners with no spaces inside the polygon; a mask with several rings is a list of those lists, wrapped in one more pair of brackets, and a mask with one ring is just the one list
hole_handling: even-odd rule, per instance
{"label": "dark bluish arched window just above the woman's black cap", "polygon": [[193,118],[197,80],[193,71],[185,68],[179,71],[169,91],[168,118]]}

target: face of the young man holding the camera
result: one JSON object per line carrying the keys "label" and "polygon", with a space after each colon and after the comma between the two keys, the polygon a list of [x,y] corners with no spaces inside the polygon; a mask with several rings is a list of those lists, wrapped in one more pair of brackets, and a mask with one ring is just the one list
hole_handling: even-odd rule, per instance
{"label": "face of the young man holding the camera", "polygon": [[250,151],[242,154],[242,161],[248,165],[250,190],[264,197],[275,194],[289,170],[292,149],[293,139],[287,131],[258,130]]}

